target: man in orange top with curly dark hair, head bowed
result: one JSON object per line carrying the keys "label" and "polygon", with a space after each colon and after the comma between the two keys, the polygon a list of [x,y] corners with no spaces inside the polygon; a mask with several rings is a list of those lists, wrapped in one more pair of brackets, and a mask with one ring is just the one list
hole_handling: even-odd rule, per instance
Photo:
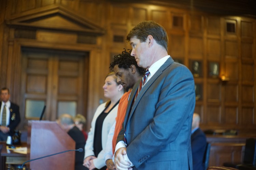
{"label": "man in orange top with curly dark hair, head bowed", "polygon": [[[135,58],[131,56],[131,50],[124,50],[122,54],[116,55],[114,57],[114,61],[110,64],[110,69],[114,70],[115,75],[117,77],[117,82],[120,83],[126,89],[126,91],[129,90],[122,96],[122,98],[119,101],[115,130],[112,138],[112,157],[115,151],[117,135],[122,129],[122,124],[124,122],[128,98],[130,96],[131,89],[137,81],[141,81],[141,78],[145,73],[145,69],[138,66]],[[108,136],[108,140],[109,139],[111,139],[110,134]],[[115,169],[115,165],[112,159],[110,158],[110,155],[106,156],[107,154],[108,153],[106,151],[106,166],[109,170],[113,170]]]}

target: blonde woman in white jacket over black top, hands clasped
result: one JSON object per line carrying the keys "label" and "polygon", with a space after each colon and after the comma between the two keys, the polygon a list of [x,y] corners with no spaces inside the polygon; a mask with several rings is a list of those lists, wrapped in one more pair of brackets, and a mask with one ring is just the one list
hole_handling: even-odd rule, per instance
{"label": "blonde woman in white jacket over black top, hands clasped", "polygon": [[109,130],[115,122],[120,98],[124,94],[123,86],[117,83],[114,72],[109,73],[103,85],[104,97],[110,101],[99,105],[93,120],[85,145],[84,166],[89,170],[105,170],[104,148]]}

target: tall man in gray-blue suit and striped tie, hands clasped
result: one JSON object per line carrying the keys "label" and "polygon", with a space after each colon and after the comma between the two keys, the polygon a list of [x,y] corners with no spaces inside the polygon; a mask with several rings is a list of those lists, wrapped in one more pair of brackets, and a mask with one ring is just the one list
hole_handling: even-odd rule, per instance
{"label": "tall man in gray-blue suit and striped tie, hands clasped", "polygon": [[116,169],[192,170],[193,75],[168,55],[168,35],[158,23],[140,22],[127,40],[131,55],[150,74],[132,89],[117,138]]}

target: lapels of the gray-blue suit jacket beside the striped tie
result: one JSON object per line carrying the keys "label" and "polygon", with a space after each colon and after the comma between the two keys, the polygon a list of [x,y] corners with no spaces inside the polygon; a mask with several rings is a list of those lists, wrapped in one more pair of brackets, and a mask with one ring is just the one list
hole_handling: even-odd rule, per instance
{"label": "lapels of the gray-blue suit jacket beside the striped tie", "polygon": [[[136,97],[136,100],[134,101],[132,105],[132,101],[134,100],[134,96],[136,95],[138,86],[140,84],[140,81],[138,81],[134,86],[131,91],[131,95],[128,101],[128,106],[126,110],[126,115],[125,115],[125,124],[124,127],[127,126],[128,122],[131,119],[132,114],[134,113],[135,108],[137,107],[138,103],[140,102],[141,98],[144,96],[145,92],[147,89],[156,81],[156,79],[162,74],[162,72],[171,65],[173,62],[173,59],[170,57],[167,59],[167,61],[157,70],[157,72],[153,75],[152,78],[146,84],[142,87],[141,91],[139,92],[138,96]],[[128,117],[129,116],[129,117]]]}

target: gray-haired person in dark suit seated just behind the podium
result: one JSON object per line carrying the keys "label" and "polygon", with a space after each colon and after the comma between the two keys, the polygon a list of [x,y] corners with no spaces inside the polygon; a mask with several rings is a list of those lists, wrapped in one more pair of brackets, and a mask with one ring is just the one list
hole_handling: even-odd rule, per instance
{"label": "gray-haired person in dark suit seated just behind the podium", "polygon": [[[73,117],[69,114],[62,114],[57,123],[61,129],[65,130],[69,136],[75,141],[75,149],[82,148],[85,146],[85,138],[83,133],[75,126]],[[83,166],[84,162],[84,151],[75,151],[75,170],[88,170]]]}

